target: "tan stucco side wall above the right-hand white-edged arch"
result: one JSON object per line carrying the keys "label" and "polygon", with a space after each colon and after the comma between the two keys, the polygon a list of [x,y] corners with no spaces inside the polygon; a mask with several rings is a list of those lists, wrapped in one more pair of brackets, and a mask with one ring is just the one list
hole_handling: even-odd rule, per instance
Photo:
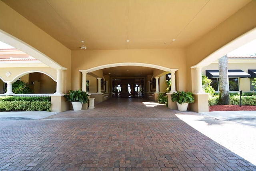
{"label": "tan stucco side wall above the right-hand white-edged arch", "polygon": [[207,66],[218,58],[255,39],[254,34],[254,36],[246,38],[243,42],[235,41],[227,46],[227,44],[236,40],[239,36],[256,28],[256,18],[252,17],[256,16],[255,9],[256,1],[253,0],[198,41],[188,46],[186,65],[187,84],[189,88],[191,87],[190,91],[193,89],[192,79],[194,79],[190,67],[198,65],[202,60],[210,56],[211,59],[208,59],[204,64],[200,64],[202,65],[201,67]]}

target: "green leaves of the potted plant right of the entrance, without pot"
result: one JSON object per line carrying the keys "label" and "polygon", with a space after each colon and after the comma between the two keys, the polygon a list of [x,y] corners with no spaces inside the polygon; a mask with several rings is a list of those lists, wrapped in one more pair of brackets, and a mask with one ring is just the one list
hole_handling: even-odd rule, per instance
{"label": "green leaves of the potted plant right of the entrance, without pot", "polygon": [[194,96],[192,92],[178,91],[173,93],[171,97],[172,101],[177,101],[179,104],[194,102]]}

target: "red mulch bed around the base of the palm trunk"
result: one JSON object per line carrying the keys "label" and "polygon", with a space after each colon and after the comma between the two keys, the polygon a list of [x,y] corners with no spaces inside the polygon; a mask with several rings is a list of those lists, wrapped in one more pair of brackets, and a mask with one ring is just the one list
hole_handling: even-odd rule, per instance
{"label": "red mulch bed around the base of the palm trunk", "polygon": [[239,105],[213,105],[209,106],[209,111],[236,111],[236,110],[255,110],[256,106],[242,106]]}

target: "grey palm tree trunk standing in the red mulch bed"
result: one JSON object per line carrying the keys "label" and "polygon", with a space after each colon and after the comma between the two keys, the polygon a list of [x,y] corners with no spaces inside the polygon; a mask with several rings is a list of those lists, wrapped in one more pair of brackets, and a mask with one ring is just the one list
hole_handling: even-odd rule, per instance
{"label": "grey palm tree trunk standing in the red mulch bed", "polygon": [[219,104],[230,104],[229,87],[228,87],[228,56],[225,55],[219,59],[219,75],[220,75],[220,97]]}

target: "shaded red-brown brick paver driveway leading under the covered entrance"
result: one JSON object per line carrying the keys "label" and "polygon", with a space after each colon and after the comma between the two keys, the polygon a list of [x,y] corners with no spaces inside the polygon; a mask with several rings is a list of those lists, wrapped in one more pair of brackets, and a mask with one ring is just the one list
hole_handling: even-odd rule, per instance
{"label": "shaded red-brown brick paver driveway leading under the covered entrance", "polygon": [[140,98],[95,107],[0,121],[0,170],[256,170],[176,117],[182,112]]}

